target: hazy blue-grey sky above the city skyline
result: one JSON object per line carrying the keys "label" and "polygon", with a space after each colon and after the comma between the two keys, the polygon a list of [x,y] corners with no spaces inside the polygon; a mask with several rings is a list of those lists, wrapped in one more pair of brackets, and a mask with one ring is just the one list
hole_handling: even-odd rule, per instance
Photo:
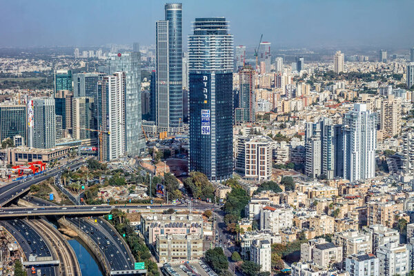
{"label": "hazy blue-grey sky above the city skyline", "polygon": [[[155,43],[159,0],[0,0],[0,46]],[[195,17],[226,17],[235,45],[414,46],[414,1],[186,0],[183,42]]]}

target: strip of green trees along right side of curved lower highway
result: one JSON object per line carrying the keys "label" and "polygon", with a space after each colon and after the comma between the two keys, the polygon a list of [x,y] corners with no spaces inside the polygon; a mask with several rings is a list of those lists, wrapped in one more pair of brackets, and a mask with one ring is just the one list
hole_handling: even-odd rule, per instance
{"label": "strip of green trees along right side of curved lower highway", "polygon": [[134,228],[130,226],[130,221],[126,219],[126,213],[121,210],[111,210],[112,220],[110,224],[114,225],[118,233],[123,236],[128,244],[132,254],[137,262],[145,262],[146,269],[148,270],[148,276],[159,276],[157,264],[151,260],[151,253],[145,242],[135,234]]}

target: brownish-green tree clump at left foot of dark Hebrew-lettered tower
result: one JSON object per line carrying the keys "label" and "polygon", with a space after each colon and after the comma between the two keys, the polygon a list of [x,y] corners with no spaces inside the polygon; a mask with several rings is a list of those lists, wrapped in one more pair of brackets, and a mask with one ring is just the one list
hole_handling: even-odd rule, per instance
{"label": "brownish-green tree clump at left foot of dark Hebrew-lettered tower", "polygon": [[190,176],[184,180],[184,187],[197,199],[214,200],[214,187],[202,172],[190,172]]}

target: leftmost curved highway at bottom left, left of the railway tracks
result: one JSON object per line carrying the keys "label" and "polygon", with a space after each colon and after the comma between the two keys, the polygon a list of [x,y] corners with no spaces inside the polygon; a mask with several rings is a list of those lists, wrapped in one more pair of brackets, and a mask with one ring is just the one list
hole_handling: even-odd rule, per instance
{"label": "leftmost curved highway at bottom left, left of the railway tracks", "polygon": [[[37,257],[52,257],[50,248],[43,241],[43,238],[32,228],[28,221],[23,219],[10,219],[0,221],[1,226],[6,228],[8,232],[17,240],[17,243],[23,250],[26,259],[29,260],[30,255]],[[59,275],[56,266],[45,265],[35,267],[41,270],[41,275]],[[28,275],[30,268],[28,268]]]}

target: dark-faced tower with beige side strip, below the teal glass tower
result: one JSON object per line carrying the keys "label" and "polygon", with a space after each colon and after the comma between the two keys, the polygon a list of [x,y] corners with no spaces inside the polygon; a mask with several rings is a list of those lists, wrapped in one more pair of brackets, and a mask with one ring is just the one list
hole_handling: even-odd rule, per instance
{"label": "dark-faced tower with beige side strip, below the teal glass tower", "polygon": [[73,92],[59,90],[55,94],[55,114],[62,117],[63,137],[68,137],[72,131],[72,98]]}

